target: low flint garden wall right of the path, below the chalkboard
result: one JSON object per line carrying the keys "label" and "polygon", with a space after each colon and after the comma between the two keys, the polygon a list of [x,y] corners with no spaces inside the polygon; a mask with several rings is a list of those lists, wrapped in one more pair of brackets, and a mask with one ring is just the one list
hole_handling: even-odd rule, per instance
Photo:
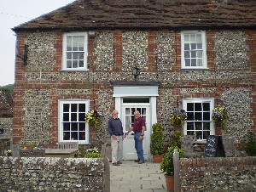
{"label": "low flint garden wall right of the path, below the chalkboard", "polygon": [[256,191],[256,157],[180,160],[181,191]]}

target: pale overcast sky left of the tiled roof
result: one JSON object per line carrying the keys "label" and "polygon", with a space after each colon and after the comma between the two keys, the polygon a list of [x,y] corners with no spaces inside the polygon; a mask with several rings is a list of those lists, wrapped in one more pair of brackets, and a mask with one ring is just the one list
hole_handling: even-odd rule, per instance
{"label": "pale overcast sky left of the tiled roof", "polygon": [[11,28],[75,0],[0,0],[0,86],[15,82],[15,32]]}

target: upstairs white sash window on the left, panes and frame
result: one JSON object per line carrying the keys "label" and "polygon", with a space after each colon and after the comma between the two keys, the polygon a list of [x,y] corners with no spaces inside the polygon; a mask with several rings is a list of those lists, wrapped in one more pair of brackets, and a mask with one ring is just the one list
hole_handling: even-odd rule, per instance
{"label": "upstairs white sash window on the left, panes and frame", "polygon": [[64,33],[62,70],[87,70],[87,44],[87,32]]}

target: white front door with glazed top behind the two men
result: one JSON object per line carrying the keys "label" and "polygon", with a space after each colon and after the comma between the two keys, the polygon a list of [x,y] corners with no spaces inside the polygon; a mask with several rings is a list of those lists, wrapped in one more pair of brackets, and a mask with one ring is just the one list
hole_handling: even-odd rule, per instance
{"label": "white front door with glazed top behind the two men", "polygon": [[[141,116],[146,121],[146,129],[143,137],[143,153],[145,160],[149,158],[149,145],[150,145],[150,110],[148,104],[124,104],[122,105],[122,121],[124,133],[127,132],[134,121],[134,111],[138,110]],[[123,141],[123,159],[124,160],[137,160],[137,152],[134,147],[134,133],[131,132],[125,136]]]}

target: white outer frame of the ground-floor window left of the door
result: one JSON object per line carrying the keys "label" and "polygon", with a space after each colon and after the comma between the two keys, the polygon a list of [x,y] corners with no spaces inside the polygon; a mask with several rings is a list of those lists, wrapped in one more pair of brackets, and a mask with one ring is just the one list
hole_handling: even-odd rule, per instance
{"label": "white outer frame of the ground-floor window left of the door", "polygon": [[[87,113],[90,110],[90,100],[89,99],[60,99],[58,101],[58,142],[72,142],[72,141],[79,141],[79,144],[90,144],[90,131],[89,125],[85,122],[85,140],[64,140],[63,139],[63,104],[85,104],[85,111]],[[85,117],[85,116],[84,116]]]}

